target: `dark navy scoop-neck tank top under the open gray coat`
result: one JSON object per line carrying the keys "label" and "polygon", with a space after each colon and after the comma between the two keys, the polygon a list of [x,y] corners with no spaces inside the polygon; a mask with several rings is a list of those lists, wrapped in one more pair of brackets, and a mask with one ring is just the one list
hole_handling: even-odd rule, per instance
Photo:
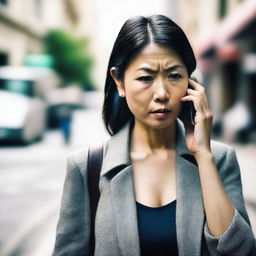
{"label": "dark navy scoop-neck tank top under the open gray coat", "polygon": [[142,256],[178,255],[176,237],[176,200],[161,207],[137,204]]}

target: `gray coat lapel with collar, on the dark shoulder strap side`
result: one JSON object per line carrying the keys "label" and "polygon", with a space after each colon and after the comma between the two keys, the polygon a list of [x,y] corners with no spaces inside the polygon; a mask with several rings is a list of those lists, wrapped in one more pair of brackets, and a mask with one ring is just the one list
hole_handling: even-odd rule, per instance
{"label": "gray coat lapel with collar, on the dark shoulder strap side", "polygon": [[[139,232],[134,195],[133,171],[129,157],[131,123],[128,123],[106,144],[100,183],[110,182],[118,247],[122,255],[139,256]],[[113,232],[114,234],[114,232]],[[112,235],[112,234],[109,234]]]}

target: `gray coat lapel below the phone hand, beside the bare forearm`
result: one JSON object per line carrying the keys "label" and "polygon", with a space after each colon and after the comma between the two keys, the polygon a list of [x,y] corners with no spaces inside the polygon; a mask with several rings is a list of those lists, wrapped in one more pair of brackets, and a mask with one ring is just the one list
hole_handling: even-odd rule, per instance
{"label": "gray coat lapel below the phone hand, beside the bare forearm", "polygon": [[195,158],[186,147],[184,127],[179,120],[176,134],[176,230],[179,255],[199,256],[204,225],[200,177]]}

